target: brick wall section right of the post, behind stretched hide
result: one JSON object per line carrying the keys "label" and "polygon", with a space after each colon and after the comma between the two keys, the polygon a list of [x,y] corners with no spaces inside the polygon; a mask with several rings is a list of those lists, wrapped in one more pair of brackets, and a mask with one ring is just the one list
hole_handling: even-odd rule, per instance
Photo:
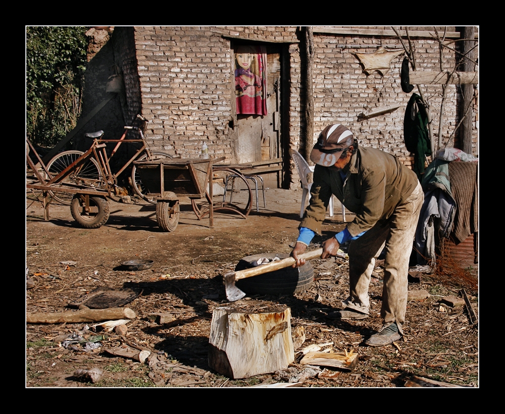
{"label": "brick wall section right of the post, behind stretched hide", "polygon": [[[319,133],[329,123],[344,123],[355,133],[360,144],[392,152],[405,164],[410,165],[412,157],[403,143],[403,117],[412,93],[419,91],[417,88],[412,93],[401,90],[400,69],[403,55],[393,58],[391,69],[384,76],[377,71],[370,75],[364,72],[356,53],[371,53],[380,45],[388,50],[400,46],[397,39],[377,37],[332,34],[314,36],[316,43],[314,129]],[[413,44],[416,50],[417,70],[438,71],[436,42],[426,38],[414,38]],[[453,65],[453,53],[448,53],[446,49],[444,67]],[[437,140],[441,86],[427,85],[423,86],[423,90],[425,96],[429,97],[433,133]],[[454,129],[454,122],[447,120],[453,120],[456,116],[456,86],[449,85],[446,93],[446,122],[442,128],[444,142]],[[360,120],[360,114],[398,104],[400,107],[393,112]]]}

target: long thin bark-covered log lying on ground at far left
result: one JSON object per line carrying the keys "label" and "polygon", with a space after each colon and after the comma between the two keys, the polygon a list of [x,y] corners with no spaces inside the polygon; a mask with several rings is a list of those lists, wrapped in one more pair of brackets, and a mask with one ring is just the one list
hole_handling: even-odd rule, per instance
{"label": "long thin bark-covered log lying on ground at far left", "polygon": [[29,324],[63,324],[80,322],[102,322],[117,319],[134,319],[135,312],[128,307],[111,307],[109,309],[82,309],[76,312],[26,314]]}

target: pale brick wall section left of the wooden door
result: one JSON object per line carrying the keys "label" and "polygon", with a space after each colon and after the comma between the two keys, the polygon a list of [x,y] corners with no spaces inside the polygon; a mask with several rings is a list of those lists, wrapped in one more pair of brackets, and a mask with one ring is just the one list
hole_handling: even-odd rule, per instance
{"label": "pale brick wall section left of the wooden door", "polygon": [[229,158],[229,41],[209,28],[135,27],[135,44],[146,136],[183,158],[204,140]]}

